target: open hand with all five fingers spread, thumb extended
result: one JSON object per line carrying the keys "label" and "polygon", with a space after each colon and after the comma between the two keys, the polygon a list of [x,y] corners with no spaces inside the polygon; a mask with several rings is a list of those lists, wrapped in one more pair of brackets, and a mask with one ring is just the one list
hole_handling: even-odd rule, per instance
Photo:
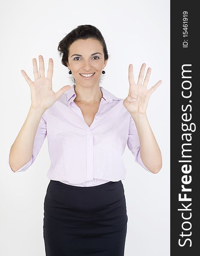
{"label": "open hand with all five fingers spread, thumb extended", "polygon": [[21,70],[21,73],[31,89],[31,107],[40,108],[43,109],[43,111],[46,111],[46,109],[50,108],[63,93],[71,88],[71,86],[65,85],[58,90],[57,93],[54,93],[52,90],[53,59],[49,59],[47,77],[45,77],[44,60],[42,55],[39,55],[39,64],[40,76],[37,69],[37,60],[36,58],[33,58],[34,82],[31,81],[24,70]]}

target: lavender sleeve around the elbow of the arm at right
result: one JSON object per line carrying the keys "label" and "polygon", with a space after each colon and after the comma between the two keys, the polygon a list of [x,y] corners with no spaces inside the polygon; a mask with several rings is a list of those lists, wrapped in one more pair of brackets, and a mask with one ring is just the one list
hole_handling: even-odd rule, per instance
{"label": "lavender sleeve around the elbow of the arm at right", "polygon": [[135,162],[140,164],[146,171],[150,172],[148,168],[144,165],[141,157],[140,157],[140,140],[137,133],[137,128],[134,123],[132,116],[130,117],[129,123],[129,138],[127,141],[128,148],[132,152],[135,157]]}

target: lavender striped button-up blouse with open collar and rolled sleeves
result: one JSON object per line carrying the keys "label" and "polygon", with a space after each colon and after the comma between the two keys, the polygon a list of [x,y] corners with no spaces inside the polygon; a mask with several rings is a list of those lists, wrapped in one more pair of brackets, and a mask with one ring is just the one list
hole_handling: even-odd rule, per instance
{"label": "lavender striped button-up blouse with open collar and rolled sleeves", "polygon": [[[51,180],[72,186],[97,186],[124,180],[126,169],[122,155],[126,144],[135,162],[150,172],[141,160],[137,129],[123,106],[123,99],[100,86],[103,97],[89,127],[74,102],[74,88],[72,85],[43,113],[34,139],[33,155],[17,172],[26,171],[34,163],[46,135],[51,159],[47,177]],[[10,164],[9,167],[11,169]]]}

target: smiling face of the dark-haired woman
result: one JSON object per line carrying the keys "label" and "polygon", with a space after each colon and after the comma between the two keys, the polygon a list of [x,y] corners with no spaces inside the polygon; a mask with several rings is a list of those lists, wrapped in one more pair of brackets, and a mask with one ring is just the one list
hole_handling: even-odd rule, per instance
{"label": "smiling face of the dark-haired woman", "polygon": [[[98,40],[79,39],[69,47],[69,62],[67,66],[76,81],[76,85],[91,86],[99,85],[102,70],[106,67],[103,47]],[[94,75],[84,77],[80,74],[89,73]]]}

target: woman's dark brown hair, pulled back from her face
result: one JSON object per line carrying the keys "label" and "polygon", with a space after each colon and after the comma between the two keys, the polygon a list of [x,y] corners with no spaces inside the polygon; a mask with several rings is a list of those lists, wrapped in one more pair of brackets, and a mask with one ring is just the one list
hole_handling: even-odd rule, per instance
{"label": "woman's dark brown hair, pulled back from her face", "polygon": [[[101,34],[100,30],[97,29],[95,26],[92,25],[80,25],[77,26],[75,29],[71,30],[69,34],[67,34],[60,42],[57,47],[59,51],[60,57],[62,56],[61,63],[67,67],[68,57],[69,57],[69,47],[70,45],[79,39],[96,39],[100,42],[103,47],[104,53],[104,61],[109,58],[106,43],[104,41],[103,35]],[[73,80],[75,83],[75,80]]]}

